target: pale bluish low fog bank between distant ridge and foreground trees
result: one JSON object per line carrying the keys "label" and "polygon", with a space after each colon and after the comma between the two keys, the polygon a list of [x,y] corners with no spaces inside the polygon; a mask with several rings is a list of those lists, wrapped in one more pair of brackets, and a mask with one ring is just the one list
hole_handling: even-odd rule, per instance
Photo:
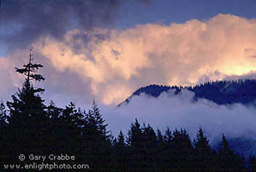
{"label": "pale bluish low fog bank between distant ridge and foreground trees", "polygon": [[[118,135],[119,130],[127,135],[131,122],[138,118],[141,124],[149,123],[155,130],[159,128],[162,132],[167,127],[171,130],[186,128],[192,139],[196,138],[197,130],[201,127],[212,146],[219,144],[222,133],[229,140],[240,144],[256,141],[255,107],[241,104],[219,106],[206,99],[193,101],[193,96],[194,93],[188,90],[181,90],[178,95],[170,90],[158,98],[140,94],[132,97],[127,105],[100,108],[114,136]],[[238,138],[243,138],[244,142]],[[236,147],[232,143],[231,146]],[[252,149],[246,145],[244,147]]]}

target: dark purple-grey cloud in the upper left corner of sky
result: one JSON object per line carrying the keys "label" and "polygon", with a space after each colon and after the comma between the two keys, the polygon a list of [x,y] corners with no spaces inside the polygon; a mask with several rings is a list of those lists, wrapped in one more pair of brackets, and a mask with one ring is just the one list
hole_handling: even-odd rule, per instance
{"label": "dark purple-grey cloud in the upper left corner of sky", "polygon": [[7,0],[1,4],[1,42],[22,47],[42,35],[61,39],[70,28],[108,26],[121,0]]}

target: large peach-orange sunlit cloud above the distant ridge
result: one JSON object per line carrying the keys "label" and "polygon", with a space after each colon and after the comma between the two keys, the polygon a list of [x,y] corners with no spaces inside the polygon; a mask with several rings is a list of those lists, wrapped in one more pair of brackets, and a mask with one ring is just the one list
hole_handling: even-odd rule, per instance
{"label": "large peach-orange sunlit cloud above the distant ridge", "polygon": [[151,83],[191,85],[256,71],[256,20],[217,15],[124,31],[73,30],[64,42],[45,37],[35,47],[57,71],[89,81],[102,103],[120,103]]}

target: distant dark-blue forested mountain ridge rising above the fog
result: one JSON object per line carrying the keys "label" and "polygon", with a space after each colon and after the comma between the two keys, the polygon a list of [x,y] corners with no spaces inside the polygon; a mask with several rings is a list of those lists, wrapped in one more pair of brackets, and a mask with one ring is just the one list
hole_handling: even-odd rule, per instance
{"label": "distant dark-blue forested mountain ridge rising above the fog", "polygon": [[[138,90],[132,93],[129,98],[131,98],[133,95],[140,95],[140,93],[146,93],[146,95],[158,97],[161,93],[167,92],[168,90],[174,90],[174,93],[178,94],[184,88],[195,93],[195,101],[198,98],[206,98],[219,105],[232,103],[256,105],[255,79],[205,82],[200,85],[195,85],[194,87],[148,85],[146,87],[140,87]],[[127,98],[124,103],[129,103],[129,98]],[[120,103],[119,106],[121,104],[122,103]]]}

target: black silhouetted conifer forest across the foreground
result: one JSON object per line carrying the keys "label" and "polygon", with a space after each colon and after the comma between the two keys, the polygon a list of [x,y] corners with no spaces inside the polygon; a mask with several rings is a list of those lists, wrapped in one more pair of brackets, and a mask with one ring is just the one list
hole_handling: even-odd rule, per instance
{"label": "black silhouetted conifer forest across the foreground", "polygon": [[[256,171],[255,157],[245,160],[233,152],[224,135],[219,150],[212,149],[202,128],[192,141],[184,128],[156,133],[151,125],[140,125],[136,119],[127,136],[120,131],[115,138],[95,101],[87,112],[72,102],[65,108],[53,102],[46,106],[39,95],[44,89],[31,83],[44,80],[35,74],[41,67],[29,60],[23,69],[16,69],[26,80],[12,101],[0,105],[1,168],[15,163],[68,163],[88,164],[89,171]],[[18,159],[21,154],[26,160]],[[75,156],[75,160],[28,158],[61,154]]]}

